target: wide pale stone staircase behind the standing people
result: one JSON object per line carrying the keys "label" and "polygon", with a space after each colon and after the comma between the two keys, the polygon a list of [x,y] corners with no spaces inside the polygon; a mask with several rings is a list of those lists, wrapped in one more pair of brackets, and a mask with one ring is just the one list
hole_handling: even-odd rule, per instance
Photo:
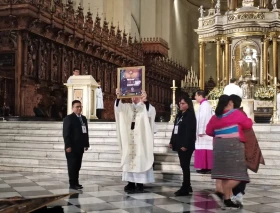
{"label": "wide pale stone staircase behind the standing people", "polygon": [[[180,181],[181,168],[177,154],[168,148],[173,126],[157,123],[155,134],[155,175],[160,179]],[[86,175],[121,176],[120,154],[114,123],[89,123],[90,149],[84,154],[81,173]],[[259,173],[250,172],[255,184],[280,185],[280,126],[254,126],[266,166]],[[1,122],[0,171],[67,173],[63,151],[61,122]],[[193,159],[192,159],[193,165]],[[210,175],[197,174],[192,180],[211,181]]]}

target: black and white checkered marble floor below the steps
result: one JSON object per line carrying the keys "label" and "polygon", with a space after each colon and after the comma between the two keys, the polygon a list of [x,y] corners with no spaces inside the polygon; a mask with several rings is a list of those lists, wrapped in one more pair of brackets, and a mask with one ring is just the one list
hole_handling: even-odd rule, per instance
{"label": "black and white checkered marble floor below the steps", "polygon": [[247,187],[242,210],[221,210],[209,194],[211,182],[193,182],[192,196],[174,197],[180,183],[157,180],[146,185],[146,193],[126,194],[120,178],[82,176],[82,191],[69,190],[67,176],[0,171],[0,199],[23,196],[36,197],[77,192],[68,199],[52,203],[44,212],[65,213],[168,213],[168,212],[242,212],[280,213],[280,186]]}

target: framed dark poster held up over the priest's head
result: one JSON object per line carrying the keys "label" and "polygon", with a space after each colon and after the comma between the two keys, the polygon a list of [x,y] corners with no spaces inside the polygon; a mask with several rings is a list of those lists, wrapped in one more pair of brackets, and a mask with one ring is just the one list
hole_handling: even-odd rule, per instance
{"label": "framed dark poster held up over the priest's head", "polygon": [[132,98],[141,96],[145,91],[145,67],[118,68],[118,98]]}

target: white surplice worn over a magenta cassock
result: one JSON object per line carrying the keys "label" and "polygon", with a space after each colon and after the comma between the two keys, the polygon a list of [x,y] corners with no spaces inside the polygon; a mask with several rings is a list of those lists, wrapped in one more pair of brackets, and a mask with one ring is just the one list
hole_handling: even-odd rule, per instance
{"label": "white surplice worn over a magenta cassock", "polygon": [[[197,123],[197,129],[196,129],[197,137],[195,143],[196,150],[199,149],[213,150],[213,138],[206,135],[205,133],[206,126],[213,115],[214,112],[210,103],[206,100],[203,101],[196,113],[196,123]],[[198,135],[203,135],[203,136],[199,137]]]}

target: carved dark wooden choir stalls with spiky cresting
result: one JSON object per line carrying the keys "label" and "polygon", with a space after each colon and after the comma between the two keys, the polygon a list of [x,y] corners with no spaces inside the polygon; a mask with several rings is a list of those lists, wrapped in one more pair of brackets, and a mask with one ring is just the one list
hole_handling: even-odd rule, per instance
{"label": "carved dark wooden choir stalls with spiky cresting", "polygon": [[[119,27],[101,24],[97,15],[73,1],[0,0],[0,117],[66,115],[63,86],[80,69],[81,75],[101,79],[104,118],[113,119],[117,68],[146,66],[146,90],[158,115],[169,113],[171,84],[187,69],[170,60],[168,44],[160,38],[133,39]],[[168,116],[167,116],[168,117]]]}

